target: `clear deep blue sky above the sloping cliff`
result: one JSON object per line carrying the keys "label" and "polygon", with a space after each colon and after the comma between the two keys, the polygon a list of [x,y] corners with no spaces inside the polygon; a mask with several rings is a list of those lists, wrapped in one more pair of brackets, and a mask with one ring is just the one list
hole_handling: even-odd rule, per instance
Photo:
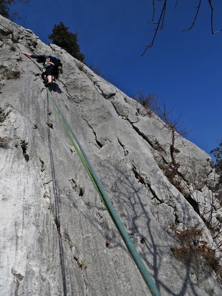
{"label": "clear deep blue sky above the sloping cliff", "polygon": [[[80,51],[88,66],[127,95],[137,90],[154,93],[175,116],[182,111],[186,138],[207,153],[222,138],[222,32],[211,34],[208,0],[202,6],[192,30],[198,0],[168,1],[165,27],[152,48],[141,57],[153,27],[152,0],[39,0],[16,5],[19,25],[31,29],[45,43],[54,24],[62,21],[79,34]],[[214,29],[222,29],[222,1],[214,0]],[[64,65],[64,67],[66,67]],[[212,156],[212,155],[211,155]]]}

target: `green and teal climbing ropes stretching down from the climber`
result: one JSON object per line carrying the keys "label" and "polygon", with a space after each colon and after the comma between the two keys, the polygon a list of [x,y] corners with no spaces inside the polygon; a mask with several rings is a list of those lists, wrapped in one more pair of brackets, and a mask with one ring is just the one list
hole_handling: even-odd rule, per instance
{"label": "green and teal climbing ropes stretching down from the climber", "polygon": [[[98,179],[96,173],[94,172],[92,165],[89,161],[89,159],[87,158],[83,148],[81,147],[80,143],[78,142],[78,139],[76,138],[74,131],[72,130],[71,126],[69,125],[69,123],[67,122],[66,118],[64,117],[64,115],[62,114],[61,110],[59,109],[58,105],[55,103],[55,101],[52,98],[52,95],[49,91],[49,89],[47,89],[47,99],[50,99],[51,104],[54,108],[54,111],[56,112],[61,124],[64,127],[64,130],[67,134],[67,136],[69,137],[71,143],[74,146],[74,149],[76,150],[84,168],[86,169],[86,172],[88,173],[93,185],[95,186],[102,202],[104,203],[107,211],[109,212],[112,221],[114,222],[118,232],[120,233],[126,247],[128,248],[132,258],[134,259],[144,281],[146,282],[148,289],[151,293],[152,296],[160,296],[160,293],[155,285],[155,283],[152,281],[151,276],[149,275],[149,272],[144,264],[144,262],[142,261],[141,257],[139,256],[134,244],[132,243],[123,223],[120,221],[114,207],[111,204],[111,200],[109,199],[103,185],[101,184],[100,180]],[[72,134],[72,135],[71,135]],[[72,137],[73,136],[73,137]],[[73,139],[74,138],[74,139]],[[75,140],[75,142],[74,142]]]}

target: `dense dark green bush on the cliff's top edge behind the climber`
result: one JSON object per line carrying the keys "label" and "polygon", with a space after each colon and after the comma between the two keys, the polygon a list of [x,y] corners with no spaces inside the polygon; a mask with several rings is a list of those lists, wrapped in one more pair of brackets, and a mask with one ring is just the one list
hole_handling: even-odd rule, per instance
{"label": "dense dark green bush on the cliff's top edge behind the climber", "polygon": [[85,63],[85,56],[80,53],[80,47],[77,43],[78,33],[70,32],[69,27],[66,27],[63,22],[59,22],[58,25],[54,25],[52,34],[49,34],[48,38],[51,39],[54,44],[65,49],[74,58],[82,63]]}

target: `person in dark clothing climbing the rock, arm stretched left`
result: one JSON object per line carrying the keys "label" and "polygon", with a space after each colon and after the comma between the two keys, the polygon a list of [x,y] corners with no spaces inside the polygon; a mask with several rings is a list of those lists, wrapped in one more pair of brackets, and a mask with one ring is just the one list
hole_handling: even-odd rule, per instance
{"label": "person in dark clothing climbing the rock, arm stretched left", "polygon": [[21,53],[28,57],[36,59],[38,63],[42,63],[46,71],[41,74],[41,77],[46,87],[53,83],[52,80],[54,80],[55,78],[58,79],[58,67],[60,73],[62,73],[62,63],[60,59],[55,56],[32,54],[24,51],[21,51]]}

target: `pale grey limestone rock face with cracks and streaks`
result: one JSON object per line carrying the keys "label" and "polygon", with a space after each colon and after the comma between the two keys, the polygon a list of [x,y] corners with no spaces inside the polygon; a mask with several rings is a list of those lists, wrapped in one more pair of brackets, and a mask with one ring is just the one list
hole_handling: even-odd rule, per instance
{"label": "pale grey limestone rock face with cracks and streaks", "polygon": [[206,226],[222,217],[210,156],[178,134],[172,150],[157,115],[1,16],[0,296],[151,295],[50,103],[41,65],[21,51],[61,59],[53,100],[160,294],[221,296],[206,257],[173,252],[183,245],[176,233],[194,228],[201,239],[186,248],[221,253],[221,236]]}

